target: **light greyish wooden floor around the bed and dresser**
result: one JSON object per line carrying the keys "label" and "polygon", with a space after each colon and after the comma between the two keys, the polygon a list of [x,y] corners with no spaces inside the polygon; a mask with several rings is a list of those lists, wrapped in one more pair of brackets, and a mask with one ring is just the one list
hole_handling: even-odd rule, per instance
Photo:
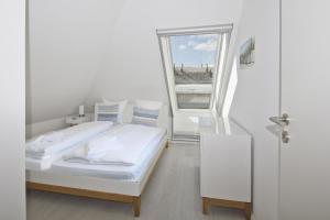
{"label": "light greyish wooden floor around the bed and dresser", "polygon": [[[201,213],[199,147],[170,145],[142,195],[140,220],[243,220],[240,210],[211,207]],[[131,205],[28,191],[28,220],[132,220]]]}

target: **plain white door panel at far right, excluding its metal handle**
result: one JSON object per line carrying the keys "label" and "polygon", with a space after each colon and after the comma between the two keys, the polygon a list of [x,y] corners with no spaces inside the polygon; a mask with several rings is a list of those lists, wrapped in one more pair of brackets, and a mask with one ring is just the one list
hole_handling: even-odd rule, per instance
{"label": "plain white door panel at far right, excluding its metal handle", "polygon": [[330,219],[330,1],[282,1],[279,219]]}

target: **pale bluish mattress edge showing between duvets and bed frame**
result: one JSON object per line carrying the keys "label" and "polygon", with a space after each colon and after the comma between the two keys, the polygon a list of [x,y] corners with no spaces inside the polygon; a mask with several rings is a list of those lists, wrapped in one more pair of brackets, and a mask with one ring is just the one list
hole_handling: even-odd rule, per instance
{"label": "pale bluish mattress edge showing between duvets and bed frame", "polygon": [[[118,127],[116,129],[118,129]],[[54,162],[52,167],[45,172],[112,179],[139,180],[152,164],[155,155],[162,150],[162,147],[164,147],[166,141],[166,130],[163,129],[156,136],[152,139],[151,142],[148,142],[140,162],[133,166],[92,165],[69,163],[64,160],[59,160]]]}

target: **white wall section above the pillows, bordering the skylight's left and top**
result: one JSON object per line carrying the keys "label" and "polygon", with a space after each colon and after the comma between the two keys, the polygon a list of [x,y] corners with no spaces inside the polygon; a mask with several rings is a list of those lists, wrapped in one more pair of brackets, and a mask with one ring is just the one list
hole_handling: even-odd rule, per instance
{"label": "white wall section above the pillows, bordering the skylight's left and top", "polygon": [[89,99],[140,98],[168,103],[156,29],[237,24],[241,3],[242,0],[128,0]]}

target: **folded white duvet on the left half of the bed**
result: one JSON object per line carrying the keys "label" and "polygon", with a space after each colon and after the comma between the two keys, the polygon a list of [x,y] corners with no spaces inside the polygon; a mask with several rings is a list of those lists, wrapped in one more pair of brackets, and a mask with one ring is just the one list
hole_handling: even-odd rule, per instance
{"label": "folded white duvet on the left half of the bed", "polygon": [[103,121],[88,122],[40,135],[25,143],[26,156],[47,160],[61,151],[107,131],[112,124],[112,122]]}

